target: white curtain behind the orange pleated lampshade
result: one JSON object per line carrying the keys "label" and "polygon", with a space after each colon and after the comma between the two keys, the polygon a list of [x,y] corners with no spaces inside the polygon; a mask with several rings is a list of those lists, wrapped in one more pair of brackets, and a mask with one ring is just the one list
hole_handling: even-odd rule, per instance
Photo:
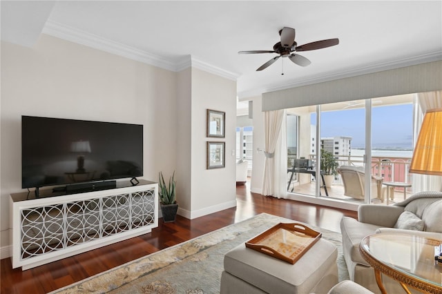
{"label": "white curtain behind the orange pleated lampshade", "polygon": [[[414,112],[414,142],[416,144],[425,112],[429,109],[442,108],[442,91],[423,92],[416,95],[417,109]],[[442,190],[442,177],[437,175],[412,174],[413,193]]]}

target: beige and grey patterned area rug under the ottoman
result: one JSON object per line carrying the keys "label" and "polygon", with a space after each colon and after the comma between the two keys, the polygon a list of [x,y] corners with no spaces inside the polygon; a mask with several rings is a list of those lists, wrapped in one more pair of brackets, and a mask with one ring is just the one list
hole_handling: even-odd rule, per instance
{"label": "beige and grey patterned area rug under the ottoman", "polygon": [[[280,222],[294,220],[261,213],[51,293],[219,293],[224,254]],[[310,227],[338,247],[339,281],[347,280],[340,233]]]}

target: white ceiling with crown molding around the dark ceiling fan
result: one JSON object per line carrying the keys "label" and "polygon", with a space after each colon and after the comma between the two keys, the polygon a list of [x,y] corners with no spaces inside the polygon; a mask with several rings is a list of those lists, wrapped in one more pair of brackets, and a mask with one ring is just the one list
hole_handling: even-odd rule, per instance
{"label": "white ceiling with crown molding around the dark ceiling fan", "polygon": [[[300,67],[273,50],[278,30],[299,45]],[[236,79],[240,100],[262,92],[442,59],[442,1],[1,1],[1,39],[33,46],[41,33],[169,70],[189,66]],[[281,75],[282,72],[284,75]]]}

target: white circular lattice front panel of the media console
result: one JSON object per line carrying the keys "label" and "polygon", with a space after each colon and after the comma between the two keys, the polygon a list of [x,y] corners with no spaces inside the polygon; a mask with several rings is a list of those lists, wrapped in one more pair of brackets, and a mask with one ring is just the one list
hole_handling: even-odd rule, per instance
{"label": "white circular lattice front panel of the media console", "polygon": [[155,189],[21,210],[21,259],[155,222]]}

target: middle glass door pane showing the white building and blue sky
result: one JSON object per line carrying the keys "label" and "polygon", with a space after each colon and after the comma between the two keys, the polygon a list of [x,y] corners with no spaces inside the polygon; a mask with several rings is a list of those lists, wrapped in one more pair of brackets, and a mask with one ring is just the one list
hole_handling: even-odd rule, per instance
{"label": "middle glass door pane showing the white building and blue sky", "polygon": [[326,197],[365,201],[365,100],[324,104],[320,112],[321,173]]}

